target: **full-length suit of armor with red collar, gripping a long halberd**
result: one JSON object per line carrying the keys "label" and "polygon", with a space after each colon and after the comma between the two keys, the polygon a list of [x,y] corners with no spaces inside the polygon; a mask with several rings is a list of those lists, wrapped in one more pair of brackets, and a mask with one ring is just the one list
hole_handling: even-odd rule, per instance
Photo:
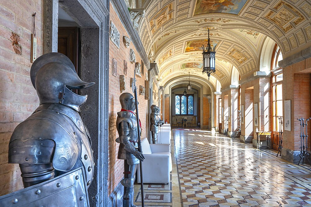
{"label": "full-length suit of armor with red collar, gripping a long halberd", "polygon": [[145,159],[142,152],[137,150],[138,134],[135,100],[132,94],[122,93],[120,96],[122,110],[118,112],[116,128],[119,137],[116,142],[120,143],[118,159],[124,160],[124,186],[123,207],[135,207],[134,205],[134,181],[139,161]]}

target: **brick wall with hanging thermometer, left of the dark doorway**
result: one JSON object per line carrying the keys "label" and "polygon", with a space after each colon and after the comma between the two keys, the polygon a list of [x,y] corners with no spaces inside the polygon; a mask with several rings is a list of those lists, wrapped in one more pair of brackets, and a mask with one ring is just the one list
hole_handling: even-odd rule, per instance
{"label": "brick wall with hanging thermometer, left of the dark doorway", "polygon": [[30,81],[30,45],[36,12],[37,57],[42,55],[43,1],[0,2],[0,196],[23,188],[18,164],[8,164],[14,128],[39,105]]}

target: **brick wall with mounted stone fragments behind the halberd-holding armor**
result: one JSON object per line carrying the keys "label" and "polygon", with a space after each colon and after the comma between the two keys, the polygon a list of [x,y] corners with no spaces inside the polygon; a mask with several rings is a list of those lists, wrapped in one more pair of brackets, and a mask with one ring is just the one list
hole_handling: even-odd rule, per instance
{"label": "brick wall with mounted stone fragments behind the halberd-holding armor", "polygon": [[[120,83],[119,76],[123,75],[123,60],[127,61],[128,70],[127,75],[125,76],[126,90],[124,92],[132,93],[132,88],[130,88],[130,78],[134,77],[134,68],[135,63],[132,64],[129,60],[130,58],[130,48],[134,49],[136,55],[136,62],[141,63],[141,57],[135,49],[133,43],[131,42],[130,47],[126,48],[123,44],[123,36],[129,36],[127,31],[124,29],[121,21],[118,18],[112,4],[110,4],[110,20],[114,23],[120,33],[120,48],[118,49],[113,42],[109,42],[109,175],[108,175],[108,195],[114,190],[118,185],[121,179],[123,179],[123,160],[118,160],[118,147],[119,144],[115,142],[115,139],[118,137],[118,132],[116,129],[116,118],[117,112],[121,110],[121,105],[119,102],[120,93]],[[112,75],[112,59],[117,60],[117,77]],[[146,72],[146,68],[145,68]],[[137,76],[136,76],[137,77]],[[145,86],[145,75],[142,75],[142,78],[137,77],[136,86],[139,88],[139,85]],[[142,121],[142,137],[146,137],[146,120],[147,120],[147,100],[145,96],[139,95],[137,91],[138,102],[139,102],[139,117]],[[133,93],[132,93],[133,94]],[[151,94],[152,95],[152,94]]]}

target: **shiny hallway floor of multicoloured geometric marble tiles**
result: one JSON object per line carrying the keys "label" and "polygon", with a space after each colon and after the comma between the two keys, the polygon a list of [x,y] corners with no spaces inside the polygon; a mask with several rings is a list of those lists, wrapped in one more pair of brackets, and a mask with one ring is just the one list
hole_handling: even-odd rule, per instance
{"label": "shiny hallway floor of multicoloured geometric marble tiles", "polygon": [[218,133],[173,134],[183,206],[311,206],[309,167]]}

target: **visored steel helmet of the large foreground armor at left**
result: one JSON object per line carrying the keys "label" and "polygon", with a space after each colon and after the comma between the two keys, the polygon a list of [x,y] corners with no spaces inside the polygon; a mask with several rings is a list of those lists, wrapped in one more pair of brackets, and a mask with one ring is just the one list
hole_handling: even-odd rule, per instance
{"label": "visored steel helmet of the large foreground armor at left", "polygon": [[30,69],[30,78],[40,104],[59,103],[77,111],[86,102],[87,95],[80,96],[71,90],[95,84],[82,81],[71,60],[58,52],[47,53],[36,59]]}

